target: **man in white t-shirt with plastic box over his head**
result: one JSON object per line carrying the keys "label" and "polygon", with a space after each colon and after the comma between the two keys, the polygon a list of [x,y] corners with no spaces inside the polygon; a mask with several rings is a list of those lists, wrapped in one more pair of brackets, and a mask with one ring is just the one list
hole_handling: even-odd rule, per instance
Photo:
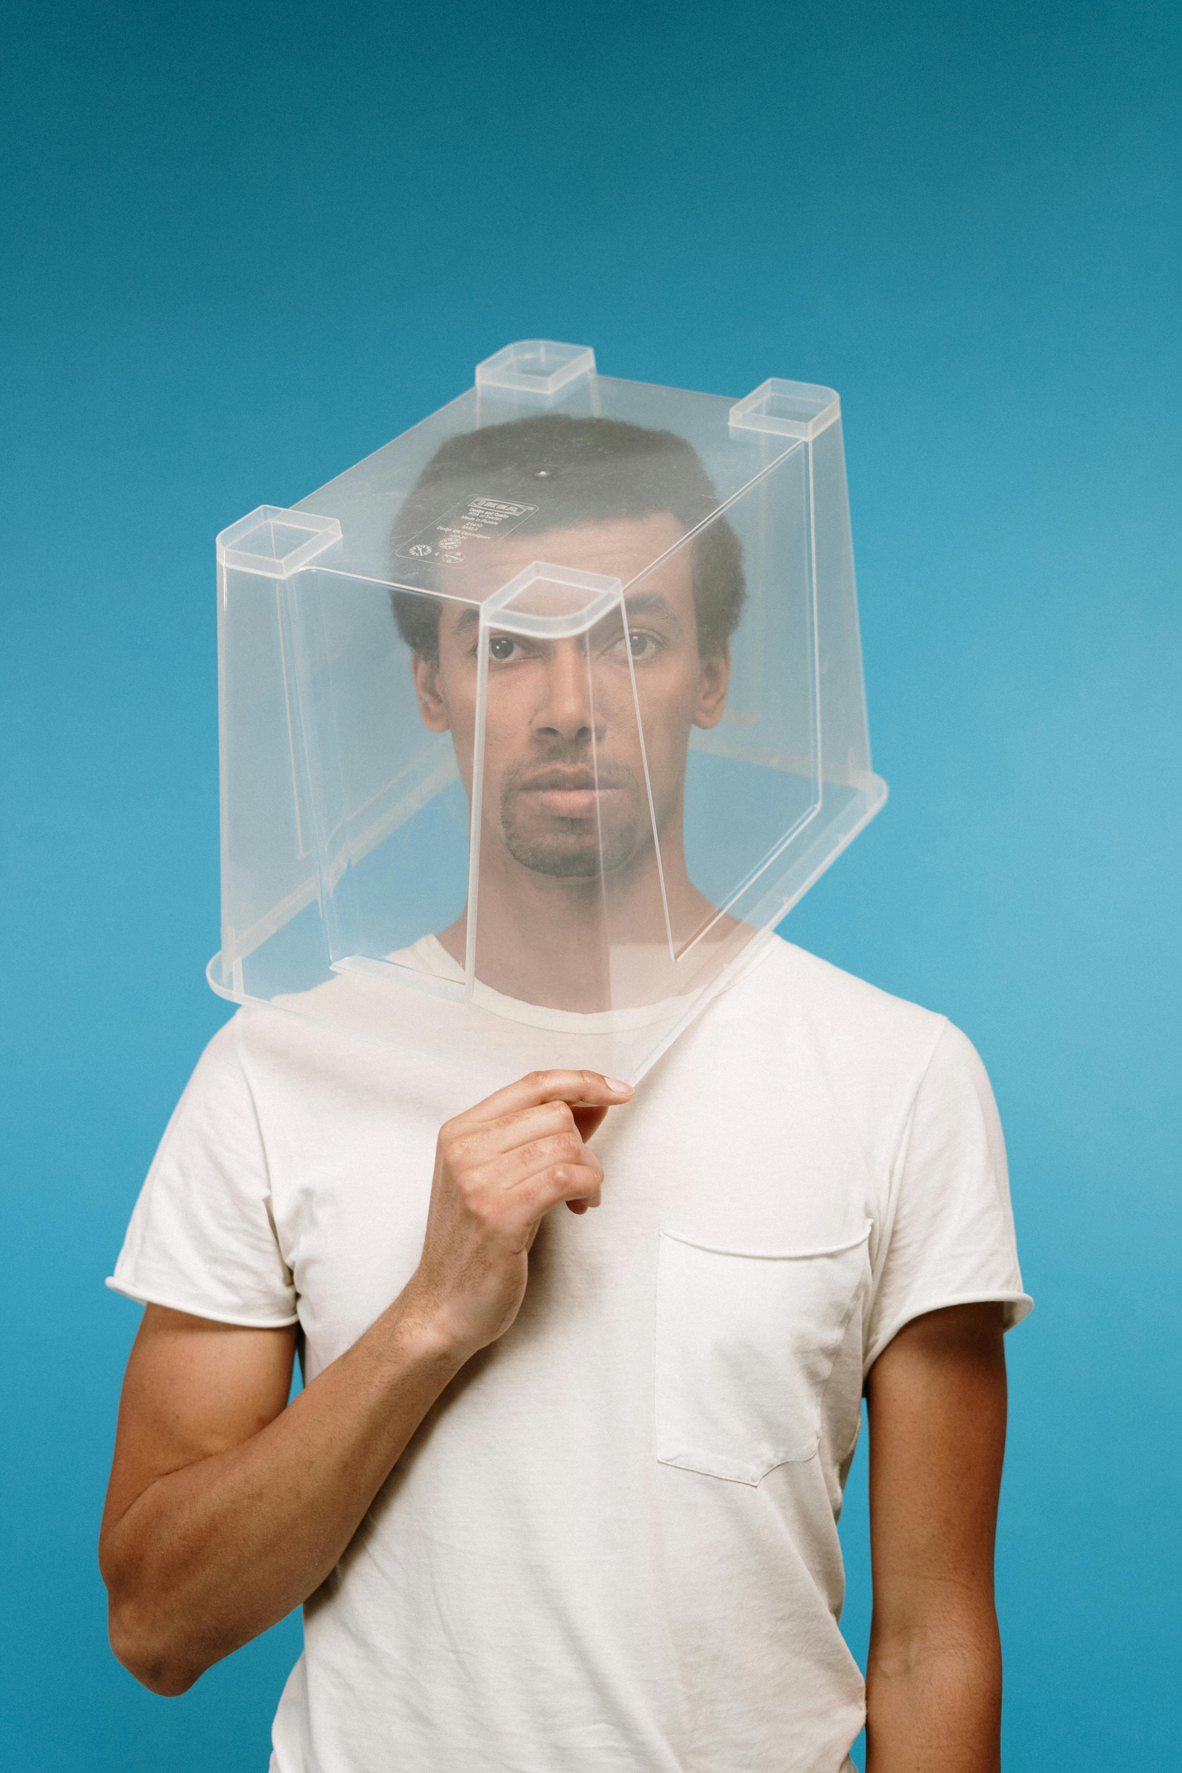
{"label": "man in white t-shirt with plastic box over his head", "polygon": [[[441,603],[395,606],[470,791],[473,601],[535,558],[629,587],[579,640],[489,638],[493,1071],[519,1023],[599,1027],[611,954],[642,956],[643,1014],[666,911],[677,950],[734,934],[680,819],[737,546],[714,523],[677,548],[711,489],[661,438],[525,420],[455,440],[411,496],[558,482],[477,576],[445,564]],[[588,457],[592,509],[562,495]],[[404,959],[464,956],[461,917]],[[1028,1300],[968,1041],[776,941],[634,1092],[585,1069],[482,1092],[432,1053],[246,1011],[202,1057],[115,1273],[147,1303],[101,1543],[121,1660],[179,1693],[303,1603],[276,1773],[838,1773],[865,1385],[870,1773],[994,1769],[1001,1332]]]}

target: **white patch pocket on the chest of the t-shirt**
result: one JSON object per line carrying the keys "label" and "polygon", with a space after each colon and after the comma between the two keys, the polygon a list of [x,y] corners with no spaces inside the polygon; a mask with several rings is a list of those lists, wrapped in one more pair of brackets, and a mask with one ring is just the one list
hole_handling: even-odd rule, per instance
{"label": "white patch pocket on the chest of the t-shirt", "polygon": [[812,1459],[820,1399],[870,1275],[867,1239],[776,1255],[661,1232],[657,1459],[739,1484]]}

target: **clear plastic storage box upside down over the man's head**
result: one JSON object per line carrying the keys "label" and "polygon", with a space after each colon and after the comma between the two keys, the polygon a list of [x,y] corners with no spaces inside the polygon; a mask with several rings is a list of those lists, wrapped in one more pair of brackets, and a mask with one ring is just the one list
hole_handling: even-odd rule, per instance
{"label": "clear plastic storage box upside down over the man's head", "polygon": [[879,810],[840,402],[525,340],[218,537],[209,982],[636,1080]]}

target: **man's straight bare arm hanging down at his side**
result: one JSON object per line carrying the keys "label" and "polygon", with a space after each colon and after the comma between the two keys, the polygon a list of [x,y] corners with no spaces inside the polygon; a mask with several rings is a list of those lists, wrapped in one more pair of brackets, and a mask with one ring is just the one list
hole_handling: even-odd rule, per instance
{"label": "man's straight bare arm hanging down at his side", "polygon": [[999,1305],[916,1317],[870,1369],[867,1773],[1001,1766],[1005,1402]]}

